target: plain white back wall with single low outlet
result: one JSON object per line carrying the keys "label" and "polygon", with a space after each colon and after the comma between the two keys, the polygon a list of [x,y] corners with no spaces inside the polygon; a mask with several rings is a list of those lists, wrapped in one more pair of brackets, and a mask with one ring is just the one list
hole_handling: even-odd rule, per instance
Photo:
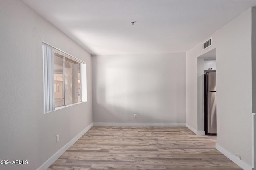
{"label": "plain white back wall with single low outlet", "polygon": [[185,63],[186,53],[93,55],[93,121],[185,125]]}

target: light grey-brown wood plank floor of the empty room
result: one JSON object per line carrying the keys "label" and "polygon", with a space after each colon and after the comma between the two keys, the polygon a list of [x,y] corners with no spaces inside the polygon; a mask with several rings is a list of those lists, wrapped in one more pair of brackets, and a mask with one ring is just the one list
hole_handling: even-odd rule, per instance
{"label": "light grey-brown wood plank floor of the empty room", "polygon": [[186,127],[92,127],[48,170],[240,170]]}

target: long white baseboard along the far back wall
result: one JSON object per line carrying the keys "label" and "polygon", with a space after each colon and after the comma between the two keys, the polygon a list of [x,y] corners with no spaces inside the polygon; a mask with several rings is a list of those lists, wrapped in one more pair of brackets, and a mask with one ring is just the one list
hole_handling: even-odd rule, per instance
{"label": "long white baseboard along the far back wall", "polygon": [[165,127],[165,126],[179,126],[185,127],[186,123],[104,123],[104,122],[94,122],[93,126],[137,126],[137,127]]}

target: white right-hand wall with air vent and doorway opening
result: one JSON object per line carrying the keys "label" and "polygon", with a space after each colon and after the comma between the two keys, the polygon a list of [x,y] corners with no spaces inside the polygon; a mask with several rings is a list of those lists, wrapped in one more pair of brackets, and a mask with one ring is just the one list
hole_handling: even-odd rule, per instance
{"label": "white right-hand wall with air vent and doorway opening", "polygon": [[[206,37],[208,38],[208,37]],[[186,53],[187,123],[198,129],[197,57],[216,48],[217,143],[252,165],[251,9],[212,35],[212,47],[201,44]]]}

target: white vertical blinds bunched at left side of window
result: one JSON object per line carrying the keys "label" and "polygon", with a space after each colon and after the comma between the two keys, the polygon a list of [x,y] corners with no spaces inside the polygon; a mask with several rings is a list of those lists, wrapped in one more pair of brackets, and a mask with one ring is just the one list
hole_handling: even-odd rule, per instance
{"label": "white vertical blinds bunched at left side of window", "polygon": [[54,111],[53,49],[43,44],[44,113]]}

